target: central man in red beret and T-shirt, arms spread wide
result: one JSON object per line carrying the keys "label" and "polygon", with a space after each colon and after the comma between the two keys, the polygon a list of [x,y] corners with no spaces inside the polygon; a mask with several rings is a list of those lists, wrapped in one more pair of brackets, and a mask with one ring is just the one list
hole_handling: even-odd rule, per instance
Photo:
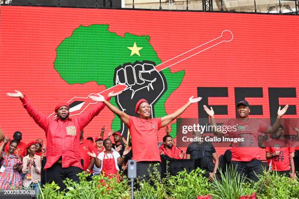
{"label": "central man in red beret and T-shirt, arms spread wide", "polygon": [[[135,113],[139,115],[139,118],[137,118],[122,112],[107,100],[104,100],[103,97],[91,96],[90,98],[96,101],[104,101],[107,107],[128,126],[132,140],[133,159],[137,161],[137,177],[140,180],[148,180],[149,172],[153,171],[153,168],[149,166],[161,162],[159,148],[157,147],[158,129],[171,123],[192,103],[201,100],[201,98],[194,99],[192,96],[184,106],[174,113],[163,118],[150,118],[151,106],[147,100],[141,99],[135,106]],[[161,172],[160,166],[158,170]]]}

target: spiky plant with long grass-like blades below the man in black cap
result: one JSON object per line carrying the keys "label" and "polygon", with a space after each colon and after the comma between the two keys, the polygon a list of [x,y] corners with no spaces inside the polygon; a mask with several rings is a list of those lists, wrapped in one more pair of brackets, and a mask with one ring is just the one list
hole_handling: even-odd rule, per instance
{"label": "spiky plant with long grass-like blades below the man in black cap", "polygon": [[251,195],[255,192],[254,187],[245,183],[245,178],[240,177],[236,169],[229,167],[226,172],[220,171],[221,181],[215,179],[212,183],[213,199],[239,199],[244,195]]}

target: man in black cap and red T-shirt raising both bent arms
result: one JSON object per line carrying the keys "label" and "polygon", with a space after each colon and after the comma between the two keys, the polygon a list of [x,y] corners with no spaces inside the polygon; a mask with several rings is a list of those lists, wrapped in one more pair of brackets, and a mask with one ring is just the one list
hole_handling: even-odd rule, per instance
{"label": "man in black cap and red T-shirt raising both bent arms", "polygon": [[[232,160],[231,163],[236,167],[236,171],[243,177],[258,181],[258,174],[263,173],[263,168],[260,160],[260,153],[258,148],[258,134],[275,133],[280,125],[280,118],[287,111],[288,105],[280,110],[278,108],[278,116],[272,126],[269,126],[258,119],[249,119],[250,105],[248,101],[242,100],[237,104],[237,119],[230,119],[222,126],[237,126],[236,131],[214,131],[216,135],[224,135],[229,133],[232,138],[242,138],[244,142],[232,143]],[[214,119],[214,110],[211,110],[204,105],[204,109],[211,117],[211,125],[217,128]]]}

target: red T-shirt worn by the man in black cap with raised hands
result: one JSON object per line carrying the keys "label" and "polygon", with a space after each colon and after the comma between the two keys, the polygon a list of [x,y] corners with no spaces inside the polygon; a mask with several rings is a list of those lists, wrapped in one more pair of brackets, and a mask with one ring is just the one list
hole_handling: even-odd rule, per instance
{"label": "red T-shirt worn by the man in black cap with raised hands", "polygon": [[[244,138],[244,142],[232,143],[233,161],[251,161],[260,159],[260,148],[258,147],[258,135],[265,133],[269,127],[259,119],[230,119],[223,125],[235,125],[237,130],[228,132],[231,138]],[[223,126],[222,125],[222,126]]]}

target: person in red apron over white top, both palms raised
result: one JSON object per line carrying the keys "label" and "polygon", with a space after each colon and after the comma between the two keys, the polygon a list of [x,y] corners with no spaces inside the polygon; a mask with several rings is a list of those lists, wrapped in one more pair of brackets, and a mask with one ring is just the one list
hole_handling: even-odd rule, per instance
{"label": "person in red apron over white top, both palms raised", "polygon": [[116,177],[119,180],[119,166],[124,162],[125,155],[131,150],[130,148],[124,151],[121,157],[117,151],[112,151],[112,141],[110,139],[104,140],[105,152],[100,153],[98,156],[94,151],[92,153],[87,152],[87,154],[95,158],[96,167],[100,168],[101,174],[109,179]]}

